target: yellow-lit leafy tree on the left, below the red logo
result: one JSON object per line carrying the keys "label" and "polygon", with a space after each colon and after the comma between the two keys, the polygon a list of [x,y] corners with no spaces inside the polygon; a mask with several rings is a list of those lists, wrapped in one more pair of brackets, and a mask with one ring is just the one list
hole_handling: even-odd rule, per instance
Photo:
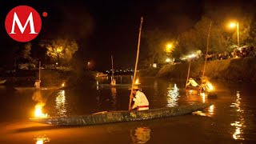
{"label": "yellow-lit leafy tree on the left, below the red logo", "polygon": [[78,44],[70,39],[53,39],[40,42],[40,46],[46,47],[46,54],[53,62],[67,64],[73,58],[73,54],[78,50]]}

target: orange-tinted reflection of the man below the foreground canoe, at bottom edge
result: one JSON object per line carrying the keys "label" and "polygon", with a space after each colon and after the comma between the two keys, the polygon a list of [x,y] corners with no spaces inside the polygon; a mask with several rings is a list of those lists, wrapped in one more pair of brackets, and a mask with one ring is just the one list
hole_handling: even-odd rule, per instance
{"label": "orange-tinted reflection of the man below the foreground canoe, at bottom edge", "polygon": [[146,143],[150,140],[150,128],[137,127],[135,130],[130,130],[130,137],[134,143]]}

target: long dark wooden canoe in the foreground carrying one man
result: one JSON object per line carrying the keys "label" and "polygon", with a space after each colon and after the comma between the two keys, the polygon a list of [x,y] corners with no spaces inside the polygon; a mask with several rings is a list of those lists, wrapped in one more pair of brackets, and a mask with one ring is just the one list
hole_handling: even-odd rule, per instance
{"label": "long dark wooden canoe in the foreground carrying one man", "polygon": [[190,114],[197,110],[211,106],[210,103],[196,103],[193,105],[173,106],[151,110],[120,110],[113,112],[100,112],[97,114],[78,115],[70,117],[30,118],[30,121],[59,126],[86,126],[114,122],[141,121],[153,118],[174,117]]}

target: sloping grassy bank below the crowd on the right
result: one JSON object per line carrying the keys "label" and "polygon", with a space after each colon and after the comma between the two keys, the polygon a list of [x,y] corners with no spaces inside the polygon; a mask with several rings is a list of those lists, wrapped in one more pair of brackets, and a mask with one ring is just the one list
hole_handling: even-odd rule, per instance
{"label": "sloping grassy bank below the crowd on the right", "polygon": [[[190,77],[196,78],[202,72],[204,62],[191,62]],[[163,66],[158,78],[186,78],[189,63]],[[256,58],[232,58],[206,62],[205,75],[214,79],[256,82]]]}

